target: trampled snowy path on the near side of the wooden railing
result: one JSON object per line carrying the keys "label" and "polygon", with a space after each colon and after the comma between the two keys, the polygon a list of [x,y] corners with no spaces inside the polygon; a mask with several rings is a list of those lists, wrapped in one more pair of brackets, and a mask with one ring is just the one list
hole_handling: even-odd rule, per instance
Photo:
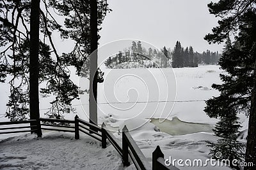
{"label": "trampled snowy path on the near side of the wooden railing", "polygon": [[124,169],[112,146],[102,149],[88,136],[44,132],[36,138],[24,134],[0,141],[0,169]]}

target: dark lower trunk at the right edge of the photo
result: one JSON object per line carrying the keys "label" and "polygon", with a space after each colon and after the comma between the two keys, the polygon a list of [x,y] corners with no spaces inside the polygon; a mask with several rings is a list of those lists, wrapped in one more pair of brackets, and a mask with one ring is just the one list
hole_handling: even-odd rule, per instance
{"label": "dark lower trunk at the right edge of the photo", "polygon": [[256,62],[254,67],[254,83],[252,89],[252,101],[245,154],[245,162],[253,162],[253,167],[244,167],[245,170],[253,170],[256,166]]}

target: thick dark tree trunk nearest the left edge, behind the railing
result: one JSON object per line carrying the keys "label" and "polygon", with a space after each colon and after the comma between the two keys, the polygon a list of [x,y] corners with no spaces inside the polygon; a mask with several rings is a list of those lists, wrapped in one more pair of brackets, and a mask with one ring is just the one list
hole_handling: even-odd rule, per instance
{"label": "thick dark tree trunk nearest the left edge, behind the railing", "polygon": [[[39,75],[39,15],[40,0],[31,0],[30,16],[30,49],[29,49],[29,110],[30,118],[38,120],[37,123],[31,123],[37,127],[31,127],[31,130],[39,127],[39,96],[38,96],[38,75]],[[37,132],[42,136],[41,130]]]}

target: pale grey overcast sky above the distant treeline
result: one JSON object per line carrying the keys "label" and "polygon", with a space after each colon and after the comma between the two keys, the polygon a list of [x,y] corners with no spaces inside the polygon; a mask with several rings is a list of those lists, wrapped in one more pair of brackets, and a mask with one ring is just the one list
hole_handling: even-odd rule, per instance
{"label": "pale grey overcast sky above the distant treeline", "polygon": [[217,25],[209,14],[209,0],[109,0],[108,13],[100,31],[100,45],[118,39],[140,39],[157,48],[174,48],[175,42],[221,52],[223,45],[209,45],[205,34]]}

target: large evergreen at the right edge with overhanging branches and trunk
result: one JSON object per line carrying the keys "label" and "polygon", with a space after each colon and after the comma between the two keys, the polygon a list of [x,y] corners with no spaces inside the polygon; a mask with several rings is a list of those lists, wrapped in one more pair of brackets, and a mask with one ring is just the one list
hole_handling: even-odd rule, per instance
{"label": "large evergreen at the right edge with overhanging branches and trunk", "polygon": [[[210,117],[227,117],[225,113],[235,111],[249,115],[248,141],[246,144],[245,162],[256,166],[256,2],[228,1],[208,4],[210,13],[221,17],[218,26],[207,34],[209,43],[220,43],[228,38],[230,32],[237,33],[235,43],[230,46],[219,61],[222,69],[228,74],[221,74],[222,85],[212,85],[221,94],[206,103],[205,111]],[[232,116],[233,121],[236,117]],[[239,156],[239,155],[237,155]]]}

